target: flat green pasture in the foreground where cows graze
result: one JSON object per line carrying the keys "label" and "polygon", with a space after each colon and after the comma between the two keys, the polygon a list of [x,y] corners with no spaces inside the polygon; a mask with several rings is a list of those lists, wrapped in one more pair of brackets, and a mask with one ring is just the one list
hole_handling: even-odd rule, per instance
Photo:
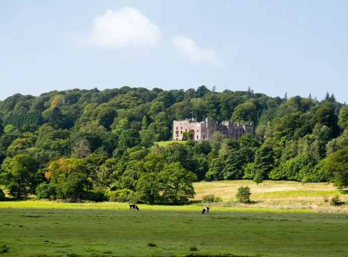
{"label": "flat green pasture in the foreground where cows graze", "polygon": [[2,202],[0,251],[8,257],[346,256],[348,250],[343,214],[211,208],[202,215],[194,205],[139,207],[138,212],[127,204]]}

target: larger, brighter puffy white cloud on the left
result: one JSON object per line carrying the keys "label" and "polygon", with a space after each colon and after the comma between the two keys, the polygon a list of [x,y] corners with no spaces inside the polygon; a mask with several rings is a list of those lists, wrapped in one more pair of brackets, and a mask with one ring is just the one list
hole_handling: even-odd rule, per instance
{"label": "larger, brighter puffy white cloud on the left", "polygon": [[153,47],[162,38],[156,24],[138,9],[125,7],[107,10],[94,19],[93,28],[86,35],[75,35],[74,41],[99,47]]}

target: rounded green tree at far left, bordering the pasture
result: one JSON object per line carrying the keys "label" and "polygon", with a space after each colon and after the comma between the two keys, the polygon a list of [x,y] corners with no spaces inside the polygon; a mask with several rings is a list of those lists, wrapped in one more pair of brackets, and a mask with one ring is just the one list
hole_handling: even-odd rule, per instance
{"label": "rounded green tree at far left, bordering the pasture", "polygon": [[36,178],[37,163],[28,155],[18,155],[5,159],[0,184],[6,186],[10,194],[21,198],[33,192],[38,184]]}

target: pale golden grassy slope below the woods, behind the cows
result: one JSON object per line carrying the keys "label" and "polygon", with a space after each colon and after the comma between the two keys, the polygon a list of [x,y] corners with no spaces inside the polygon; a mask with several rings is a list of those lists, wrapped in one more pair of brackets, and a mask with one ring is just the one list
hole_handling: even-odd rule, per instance
{"label": "pale golden grassy slope below the woods, behind the cows", "polygon": [[[251,188],[251,199],[255,204],[245,205],[235,202],[235,194],[240,186]],[[334,195],[347,202],[348,194],[336,190],[330,183],[300,183],[296,181],[264,181],[258,186],[250,180],[233,180],[219,182],[198,182],[194,184],[195,199],[200,200],[204,195],[215,194],[222,197],[224,203],[218,205],[229,207],[252,208],[282,208],[282,209],[308,209],[317,212],[342,212],[348,213],[348,205],[332,207],[330,199]],[[216,205],[216,204],[215,204]]]}

